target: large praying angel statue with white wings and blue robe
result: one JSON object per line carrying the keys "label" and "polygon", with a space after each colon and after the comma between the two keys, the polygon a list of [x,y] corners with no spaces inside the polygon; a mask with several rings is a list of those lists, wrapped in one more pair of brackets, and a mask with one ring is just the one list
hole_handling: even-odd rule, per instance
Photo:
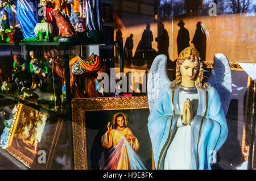
{"label": "large praying angel statue with white wings and blue robe", "polygon": [[167,77],[167,57],[157,56],[148,77],[148,132],[156,169],[211,169],[228,136],[225,114],[232,83],[228,58],[217,53],[208,82],[195,47],[183,49],[176,79]]}

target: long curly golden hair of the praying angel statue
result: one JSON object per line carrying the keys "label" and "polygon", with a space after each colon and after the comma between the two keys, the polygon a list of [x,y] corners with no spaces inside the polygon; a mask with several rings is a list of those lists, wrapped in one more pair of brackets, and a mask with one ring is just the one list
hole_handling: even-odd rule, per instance
{"label": "long curly golden hair of the praying angel statue", "polygon": [[201,90],[207,89],[208,84],[202,83],[204,78],[204,64],[203,61],[201,61],[200,53],[195,47],[187,47],[180,52],[176,62],[176,78],[171,83],[171,89],[177,89],[177,87],[181,85],[180,65],[182,65],[185,60],[199,62],[199,70],[197,71],[197,74],[195,76],[195,86]]}

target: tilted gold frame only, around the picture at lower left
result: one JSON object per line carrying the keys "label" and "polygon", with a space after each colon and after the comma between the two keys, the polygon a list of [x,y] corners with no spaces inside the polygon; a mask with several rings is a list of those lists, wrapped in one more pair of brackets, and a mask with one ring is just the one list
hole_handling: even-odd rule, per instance
{"label": "tilted gold frame only, around the picture at lower left", "polygon": [[[10,132],[9,132],[9,138],[8,138],[8,141],[7,141],[8,146],[7,146],[6,150],[11,155],[13,155],[13,157],[18,159],[20,162],[22,162],[24,165],[26,165],[30,169],[45,169],[45,170],[51,169],[53,156],[54,156],[54,153],[55,153],[55,150],[56,150],[57,142],[58,142],[59,137],[60,137],[61,128],[63,126],[63,120],[58,119],[58,121],[57,121],[57,125],[56,125],[55,133],[54,133],[54,136],[53,136],[53,139],[52,139],[51,148],[49,150],[46,166],[43,167],[39,163],[35,163],[34,160],[27,157],[22,152],[20,152],[19,150],[16,150],[13,146],[11,146],[11,143],[13,141],[13,137],[14,137],[14,134],[15,134],[15,131],[16,131],[16,127],[17,127],[18,122],[19,122],[20,113],[22,112],[22,108],[24,108],[24,106],[25,105],[21,104],[21,103],[17,104],[17,108],[16,108],[16,111],[15,111],[15,114],[14,114],[13,123],[11,124]],[[26,107],[31,108],[31,107],[28,107],[28,106],[26,106]],[[31,108],[31,109],[33,109],[33,108]]]}

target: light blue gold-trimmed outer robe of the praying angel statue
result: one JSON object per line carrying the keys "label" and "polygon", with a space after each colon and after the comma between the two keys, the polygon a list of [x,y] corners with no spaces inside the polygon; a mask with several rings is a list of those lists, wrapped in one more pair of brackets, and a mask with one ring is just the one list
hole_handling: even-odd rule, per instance
{"label": "light blue gold-trimmed outer robe of the praying angel statue", "polygon": [[[196,163],[197,169],[211,169],[217,151],[228,136],[228,126],[217,90],[210,86],[197,91],[199,106],[191,121],[191,163]],[[156,169],[164,169],[166,152],[178,129],[177,119],[182,114],[178,98],[179,88],[172,90],[170,84],[164,86],[148,117]]]}

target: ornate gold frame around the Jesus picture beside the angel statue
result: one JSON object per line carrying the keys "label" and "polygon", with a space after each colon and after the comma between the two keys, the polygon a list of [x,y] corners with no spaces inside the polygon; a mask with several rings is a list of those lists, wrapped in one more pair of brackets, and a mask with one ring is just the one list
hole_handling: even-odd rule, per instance
{"label": "ornate gold frame around the Jesus picture beside the angel statue", "polygon": [[[86,148],[86,111],[148,108],[147,96],[72,99],[73,154],[76,170],[88,170]],[[154,165],[152,159],[152,166]]]}

